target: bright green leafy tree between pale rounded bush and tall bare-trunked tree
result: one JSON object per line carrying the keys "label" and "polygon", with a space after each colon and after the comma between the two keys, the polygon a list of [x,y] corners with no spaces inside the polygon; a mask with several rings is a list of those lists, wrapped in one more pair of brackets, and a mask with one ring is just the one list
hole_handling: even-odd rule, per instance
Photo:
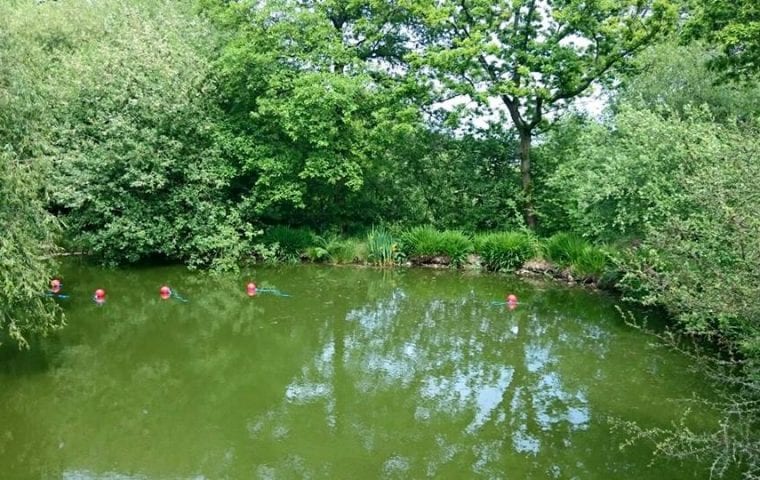
{"label": "bright green leafy tree between pale rounded bush and tall bare-trunked tree", "polygon": [[222,146],[234,154],[247,220],[325,228],[376,221],[377,207],[391,218],[405,214],[392,205],[403,197],[393,168],[420,155],[420,112],[411,92],[370,62],[399,55],[393,31],[372,25],[386,17],[361,17],[356,8],[211,9],[230,34],[217,63]]}

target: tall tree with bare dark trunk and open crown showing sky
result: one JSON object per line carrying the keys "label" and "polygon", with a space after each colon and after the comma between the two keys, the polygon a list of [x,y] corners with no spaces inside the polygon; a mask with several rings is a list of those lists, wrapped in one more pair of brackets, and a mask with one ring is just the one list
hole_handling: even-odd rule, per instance
{"label": "tall tree with bare dark trunk and open crown showing sky", "polygon": [[535,227],[531,141],[673,24],[671,0],[420,0],[412,63],[441,98],[464,97],[489,128],[515,128],[525,220]]}

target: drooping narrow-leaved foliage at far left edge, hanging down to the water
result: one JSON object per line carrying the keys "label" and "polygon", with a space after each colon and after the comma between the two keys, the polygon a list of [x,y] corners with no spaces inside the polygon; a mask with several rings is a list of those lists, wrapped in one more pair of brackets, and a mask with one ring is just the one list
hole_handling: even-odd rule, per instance
{"label": "drooping narrow-leaved foliage at far left edge, hanging down to the water", "polygon": [[[2,7],[0,15],[17,20]],[[51,169],[42,112],[48,72],[34,64],[30,50],[0,28],[0,344],[20,347],[28,346],[30,335],[62,325],[60,311],[45,297],[60,227],[46,210]]]}

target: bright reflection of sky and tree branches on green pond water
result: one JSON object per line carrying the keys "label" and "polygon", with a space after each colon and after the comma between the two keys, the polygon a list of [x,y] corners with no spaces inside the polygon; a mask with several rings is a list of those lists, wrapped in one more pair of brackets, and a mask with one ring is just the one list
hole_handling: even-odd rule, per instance
{"label": "bright reflection of sky and tree branches on green pond water", "polygon": [[[258,419],[252,436],[270,441],[283,428],[292,436],[313,436],[282,425],[297,417],[295,411],[321,409],[321,435],[350,438],[363,447],[357,455],[386,459],[376,462],[373,474],[469,469],[496,478],[517,465],[534,465],[525,473],[552,475],[560,471],[551,461],[553,449],[571,446],[592,418],[588,386],[576,366],[562,364],[563,353],[602,358],[609,343],[601,327],[564,313],[577,311],[572,299],[536,290],[510,312],[472,290],[442,300],[438,292],[394,289],[333,322],[321,351],[288,385],[277,413],[269,414],[276,426]],[[301,461],[325,462],[340,468],[335,454]]]}

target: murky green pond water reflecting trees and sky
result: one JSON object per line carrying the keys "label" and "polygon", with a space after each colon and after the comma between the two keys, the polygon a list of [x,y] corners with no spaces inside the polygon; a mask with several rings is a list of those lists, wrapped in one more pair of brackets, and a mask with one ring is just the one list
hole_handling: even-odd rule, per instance
{"label": "murky green pond water reflecting trees and sky", "polygon": [[431,270],[62,275],[68,326],[0,356],[3,479],[707,477],[620,450],[610,418],[668,426],[706,387],[613,297]]}

